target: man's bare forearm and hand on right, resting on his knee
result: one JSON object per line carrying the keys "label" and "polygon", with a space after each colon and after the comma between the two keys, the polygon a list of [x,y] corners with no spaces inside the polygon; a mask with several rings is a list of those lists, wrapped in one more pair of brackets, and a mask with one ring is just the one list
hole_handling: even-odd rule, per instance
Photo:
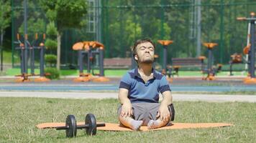
{"label": "man's bare forearm and hand on right, resting on his knee", "polygon": [[160,104],[157,117],[160,117],[161,121],[168,120],[170,117],[170,112],[168,106],[173,103],[173,96],[170,94],[170,91],[165,91],[163,94],[163,100]]}

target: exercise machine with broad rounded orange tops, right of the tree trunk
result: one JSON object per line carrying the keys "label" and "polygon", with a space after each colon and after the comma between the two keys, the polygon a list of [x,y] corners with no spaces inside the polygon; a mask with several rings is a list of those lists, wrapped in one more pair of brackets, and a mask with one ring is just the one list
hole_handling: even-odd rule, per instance
{"label": "exercise machine with broad rounded orange tops, right of the tree trunk", "polygon": [[[74,79],[74,82],[109,82],[109,79],[104,77],[104,45],[98,41],[83,41],[73,45],[73,50],[78,51],[79,77]],[[94,74],[99,77],[93,78],[91,75],[91,66],[93,66],[93,57],[99,55],[99,74]],[[87,56],[87,73],[83,73],[83,59]],[[93,70],[93,69],[92,69]]]}

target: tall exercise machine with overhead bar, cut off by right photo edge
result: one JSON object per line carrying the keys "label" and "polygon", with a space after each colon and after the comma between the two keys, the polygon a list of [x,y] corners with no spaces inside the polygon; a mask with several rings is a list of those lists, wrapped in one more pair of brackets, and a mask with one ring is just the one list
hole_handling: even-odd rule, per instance
{"label": "tall exercise machine with overhead bar, cut off by right photo edge", "polygon": [[[256,84],[256,78],[255,78],[255,25],[256,25],[256,17],[255,13],[251,12],[250,17],[238,17],[237,20],[239,21],[249,21],[250,25],[250,35],[248,35],[248,38],[250,39],[250,42],[247,42],[247,46],[244,47],[243,51],[244,54],[248,54],[248,77],[244,79],[244,84]],[[248,40],[247,40],[248,41]]]}

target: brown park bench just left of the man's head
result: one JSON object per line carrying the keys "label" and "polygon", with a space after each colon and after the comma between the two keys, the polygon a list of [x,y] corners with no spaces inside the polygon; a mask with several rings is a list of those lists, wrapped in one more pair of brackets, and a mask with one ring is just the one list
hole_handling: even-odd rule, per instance
{"label": "brown park bench just left of the man's head", "polygon": [[104,58],[104,69],[131,69],[131,58]]}

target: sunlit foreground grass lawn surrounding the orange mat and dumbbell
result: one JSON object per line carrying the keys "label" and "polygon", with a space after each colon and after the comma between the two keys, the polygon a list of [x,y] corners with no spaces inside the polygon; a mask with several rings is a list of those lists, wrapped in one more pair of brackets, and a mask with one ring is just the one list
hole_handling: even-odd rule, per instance
{"label": "sunlit foreground grass lawn surrounding the orange mat and dumbbell", "polygon": [[42,122],[64,122],[68,114],[83,121],[93,113],[99,122],[117,122],[116,99],[0,99],[0,142],[255,142],[256,104],[175,102],[175,122],[227,122],[234,127],[155,132],[104,132],[67,139],[65,131],[37,129]]}

